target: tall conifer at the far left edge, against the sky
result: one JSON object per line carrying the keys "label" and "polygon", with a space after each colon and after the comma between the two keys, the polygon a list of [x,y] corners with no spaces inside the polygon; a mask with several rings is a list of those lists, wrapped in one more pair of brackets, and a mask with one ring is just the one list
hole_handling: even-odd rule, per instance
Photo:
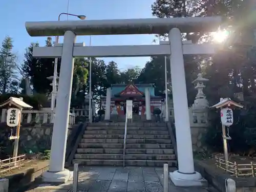
{"label": "tall conifer at the far left edge, against the sky", "polygon": [[16,56],[12,53],[13,40],[7,36],[0,48],[0,91],[2,94],[13,91],[17,87]]}

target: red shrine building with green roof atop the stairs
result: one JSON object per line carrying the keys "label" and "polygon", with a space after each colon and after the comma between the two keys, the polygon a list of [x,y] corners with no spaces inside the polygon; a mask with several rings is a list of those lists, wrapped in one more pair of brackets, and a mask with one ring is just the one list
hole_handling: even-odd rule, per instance
{"label": "red shrine building with green roof atop the stairs", "polygon": [[[151,113],[155,108],[162,110],[162,96],[155,96],[154,84],[112,84],[111,85],[111,115],[125,115],[126,100],[133,101],[133,114],[146,115],[145,90],[150,92]],[[101,97],[101,105],[106,105],[106,97]]]}

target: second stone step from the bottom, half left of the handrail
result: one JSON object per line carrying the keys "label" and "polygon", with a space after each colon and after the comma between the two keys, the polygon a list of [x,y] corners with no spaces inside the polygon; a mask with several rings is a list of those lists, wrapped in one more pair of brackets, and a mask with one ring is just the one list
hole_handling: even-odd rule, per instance
{"label": "second stone step from the bottom, half left of the handrail", "polygon": [[123,159],[123,154],[75,154],[75,159]]}

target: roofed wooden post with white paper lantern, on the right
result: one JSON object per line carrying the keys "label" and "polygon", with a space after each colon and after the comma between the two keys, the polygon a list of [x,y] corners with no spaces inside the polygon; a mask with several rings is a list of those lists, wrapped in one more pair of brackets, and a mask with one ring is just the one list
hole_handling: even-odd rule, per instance
{"label": "roofed wooden post with white paper lantern, on the right", "polygon": [[[229,136],[229,126],[233,124],[233,111],[231,109],[232,106],[236,106],[238,108],[243,108],[243,105],[232,101],[230,98],[220,98],[220,102],[211,106],[211,108],[221,109],[221,124],[222,124],[222,138],[223,138],[223,151],[225,156],[225,164],[226,169],[228,169],[228,148],[227,148],[227,140],[231,140]],[[226,133],[227,126],[227,133]]]}

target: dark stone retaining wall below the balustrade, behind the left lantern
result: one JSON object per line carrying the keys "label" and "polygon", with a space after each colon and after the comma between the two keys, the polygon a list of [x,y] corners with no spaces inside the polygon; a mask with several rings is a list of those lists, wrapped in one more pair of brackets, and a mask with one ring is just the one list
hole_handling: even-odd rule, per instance
{"label": "dark stone retaining wall below the balustrade, behind the left lantern", "polygon": [[[6,149],[2,156],[12,155],[13,140],[9,140],[10,127],[6,123],[0,124],[0,148]],[[69,134],[72,129],[69,129]],[[38,153],[51,149],[53,124],[23,124],[20,127],[19,154]],[[4,150],[4,151],[6,151]],[[3,150],[2,150],[3,151]],[[4,153],[4,154],[3,154]]]}

